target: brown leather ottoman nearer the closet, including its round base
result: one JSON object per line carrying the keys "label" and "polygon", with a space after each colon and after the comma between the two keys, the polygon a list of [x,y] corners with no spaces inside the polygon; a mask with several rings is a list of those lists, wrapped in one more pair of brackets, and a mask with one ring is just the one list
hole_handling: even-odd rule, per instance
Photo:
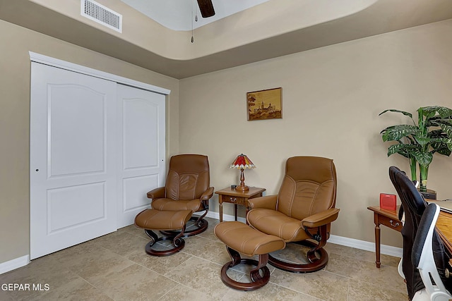
{"label": "brown leather ottoman nearer the closet, including its round base", "polygon": [[[150,237],[151,241],[146,244],[146,253],[154,256],[167,256],[179,252],[185,246],[185,240],[182,238],[185,231],[186,222],[191,218],[191,210],[181,211],[160,211],[155,209],[145,209],[135,216],[135,226],[144,228],[145,233]],[[170,231],[182,229],[180,233],[175,235],[165,235],[158,237],[153,230]],[[174,246],[169,250],[155,250],[153,245],[163,240],[172,240]]]}

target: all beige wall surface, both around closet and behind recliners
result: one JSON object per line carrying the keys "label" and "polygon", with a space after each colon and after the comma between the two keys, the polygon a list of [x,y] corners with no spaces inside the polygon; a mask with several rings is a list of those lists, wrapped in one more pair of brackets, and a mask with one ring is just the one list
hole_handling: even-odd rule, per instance
{"label": "all beige wall surface, both around closet and behind recliners", "polygon": [[[452,21],[359,39],[194,78],[175,80],[0,21],[0,263],[29,254],[30,59],[34,51],[172,90],[167,99],[167,155],[207,154],[216,189],[237,183],[228,168],[244,152],[257,168],[246,184],[278,192],[285,159],[327,156],[338,171],[333,234],[373,242],[369,205],[393,192],[379,131],[401,120],[383,109],[414,112],[451,106]],[[180,85],[180,86],[179,86]],[[283,87],[283,119],[246,121],[246,92]],[[182,112],[179,114],[179,111]],[[180,116],[179,116],[180,115]],[[452,159],[436,156],[429,188],[452,197]],[[212,210],[218,211],[217,197]],[[232,214],[225,205],[225,213]],[[243,211],[241,212],[243,215]],[[401,246],[383,228],[383,243]]]}

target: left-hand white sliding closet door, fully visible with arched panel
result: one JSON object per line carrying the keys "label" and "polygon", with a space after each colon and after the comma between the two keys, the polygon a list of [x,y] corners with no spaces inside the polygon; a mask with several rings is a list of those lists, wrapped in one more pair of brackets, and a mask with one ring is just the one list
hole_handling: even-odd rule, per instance
{"label": "left-hand white sliding closet door, fully visible with arched panel", "polygon": [[31,259],[117,229],[116,86],[32,62]]}

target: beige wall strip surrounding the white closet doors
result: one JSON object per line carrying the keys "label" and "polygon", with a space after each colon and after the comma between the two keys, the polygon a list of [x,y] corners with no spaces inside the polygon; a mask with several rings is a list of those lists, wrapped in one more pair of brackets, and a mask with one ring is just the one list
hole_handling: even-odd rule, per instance
{"label": "beige wall strip surrounding the white closet doors", "polygon": [[171,90],[167,154],[179,152],[179,81],[0,20],[0,263],[30,254],[28,51]]}

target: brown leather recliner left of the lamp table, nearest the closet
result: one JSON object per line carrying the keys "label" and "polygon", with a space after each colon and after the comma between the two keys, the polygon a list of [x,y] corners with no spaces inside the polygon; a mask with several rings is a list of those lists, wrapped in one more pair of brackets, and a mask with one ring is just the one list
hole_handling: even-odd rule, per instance
{"label": "brown leather recliner left of the lamp table, nearest the closet", "polygon": [[[206,231],[209,199],[213,196],[210,185],[210,170],[207,156],[200,154],[179,154],[169,159],[169,171],[165,187],[148,192],[152,199],[150,206],[160,211],[193,212],[205,211],[201,216],[192,216],[192,225],[186,226],[184,236]],[[190,230],[190,228],[192,228]],[[168,234],[171,231],[160,231]]]}

